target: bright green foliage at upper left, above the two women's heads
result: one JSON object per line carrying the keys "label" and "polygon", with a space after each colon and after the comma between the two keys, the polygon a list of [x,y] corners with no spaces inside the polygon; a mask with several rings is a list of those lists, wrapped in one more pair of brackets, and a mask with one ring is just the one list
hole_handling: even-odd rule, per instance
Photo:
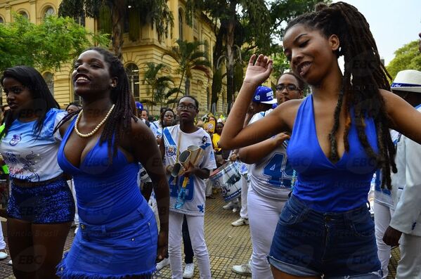
{"label": "bright green foliage at upper left, above the two women's heads", "polygon": [[72,18],[47,17],[34,25],[21,15],[0,25],[0,72],[15,65],[58,70],[92,44],[108,46],[106,35],[87,32]]}

